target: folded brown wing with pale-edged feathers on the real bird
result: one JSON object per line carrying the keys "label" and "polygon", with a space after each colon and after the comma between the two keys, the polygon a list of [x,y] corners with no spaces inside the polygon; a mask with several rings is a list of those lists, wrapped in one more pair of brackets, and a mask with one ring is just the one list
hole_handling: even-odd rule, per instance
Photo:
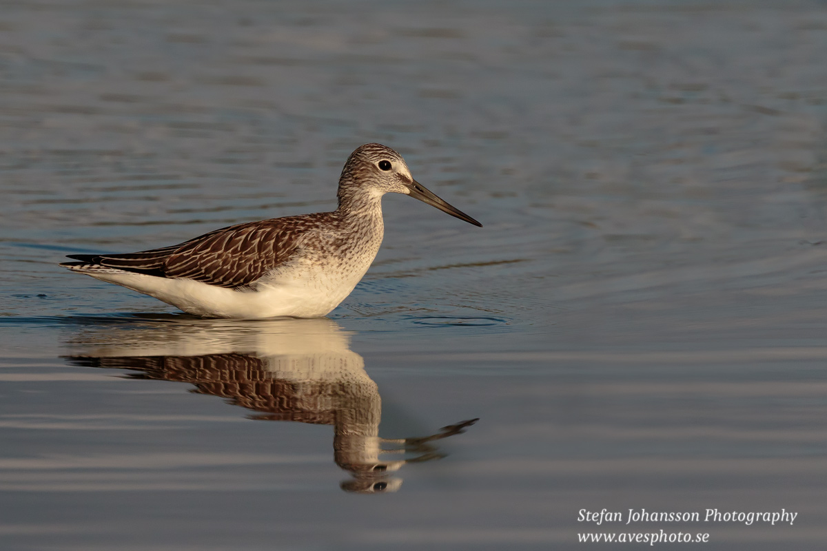
{"label": "folded brown wing with pale-edged feathers on the real bird", "polygon": [[306,230],[327,213],[249,222],[211,231],[179,245],[126,254],[74,254],[86,264],[161,278],[188,278],[216,287],[250,285],[287,261]]}

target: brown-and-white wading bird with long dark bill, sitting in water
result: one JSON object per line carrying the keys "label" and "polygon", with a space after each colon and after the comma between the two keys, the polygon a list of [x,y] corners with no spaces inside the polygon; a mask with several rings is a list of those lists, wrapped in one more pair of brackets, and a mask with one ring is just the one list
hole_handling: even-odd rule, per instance
{"label": "brown-and-white wading bird with long dark bill, sitting in water", "polygon": [[214,230],[179,245],[125,254],[70,254],[60,264],[155,297],[196,316],[325,316],[365,275],[382,242],[381,198],[404,193],[480,226],[411,177],[380,144],[347,159],[332,212]]}

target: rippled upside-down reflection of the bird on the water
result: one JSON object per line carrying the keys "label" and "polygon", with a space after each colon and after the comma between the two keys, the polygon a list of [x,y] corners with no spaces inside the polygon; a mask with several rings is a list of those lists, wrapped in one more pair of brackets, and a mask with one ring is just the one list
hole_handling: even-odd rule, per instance
{"label": "rippled upside-down reflection of the bird on the water", "polygon": [[402,480],[390,473],[405,463],[444,457],[436,441],[461,433],[476,419],[421,438],[381,438],[379,389],[349,340],[327,319],[245,322],[174,316],[90,324],[67,344],[75,365],[127,368],[140,372],[133,378],[189,382],[194,392],[256,411],[251,419],[332,425],[334,460],[352,475],[342,489],[394,492]]}

